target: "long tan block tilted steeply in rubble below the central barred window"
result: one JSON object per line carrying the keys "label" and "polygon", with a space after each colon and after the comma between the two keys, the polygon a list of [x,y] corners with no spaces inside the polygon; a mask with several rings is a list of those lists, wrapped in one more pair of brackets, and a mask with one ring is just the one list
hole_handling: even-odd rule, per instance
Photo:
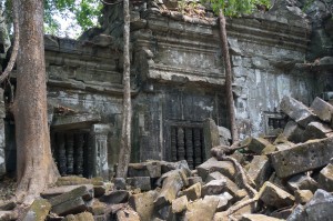
{"label": "long tan block tilted steeply in rubble below the central barred window", "polygon": [[168,177],[163,180],[162,190],[154,201],[155,208],[170,205],[172,200],[176,198],[178,192],[185,185],[184,182],[188,182],[184,170],[169,172]]}

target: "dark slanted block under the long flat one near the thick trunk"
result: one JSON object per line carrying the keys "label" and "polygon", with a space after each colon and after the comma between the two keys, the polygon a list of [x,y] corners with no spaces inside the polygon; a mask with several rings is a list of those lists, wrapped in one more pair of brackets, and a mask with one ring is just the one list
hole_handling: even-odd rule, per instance
{"label": "dark slanted block under the long flat one near the thick trunk", "polygon": [[75,198],[57,205],[52,205],[52,212],[59,215],[77,214],[88,210],[82,198]]}

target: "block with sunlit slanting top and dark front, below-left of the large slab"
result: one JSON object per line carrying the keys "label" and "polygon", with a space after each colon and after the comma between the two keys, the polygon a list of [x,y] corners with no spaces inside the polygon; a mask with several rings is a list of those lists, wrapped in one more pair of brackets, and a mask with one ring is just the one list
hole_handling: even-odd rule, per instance
{"label": "block with sunlit slanting top and dark front, below-left of the large slab", "polygon": [[292,205],[295,201],[294,197],[282,190],[281,188],[274,185],[271,182],[265,182],[260,189],[259,198],[265,204],[275,208],[283,208]]}

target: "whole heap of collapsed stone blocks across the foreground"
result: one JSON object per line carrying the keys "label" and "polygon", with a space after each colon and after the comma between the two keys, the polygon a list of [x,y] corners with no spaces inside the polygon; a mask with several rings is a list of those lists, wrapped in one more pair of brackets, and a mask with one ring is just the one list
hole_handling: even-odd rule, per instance
{"label": "whole heap of collapsed stone blocks across the foreground", "polygon": [[[195,170],[186,161],[147,161],[112,182],[63,177],[20,219],[332,220],[333,106],[316,98],[307,108],[284,97],[281,110],[290,120],[275,140],[246,139],[230,155],[228,147],[215,147]],[[0,212],[0,220],[13,217]]]}

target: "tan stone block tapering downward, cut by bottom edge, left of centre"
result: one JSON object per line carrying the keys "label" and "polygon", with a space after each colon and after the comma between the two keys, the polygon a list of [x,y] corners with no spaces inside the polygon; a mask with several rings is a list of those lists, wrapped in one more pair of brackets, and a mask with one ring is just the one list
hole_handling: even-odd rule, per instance
{"label": "tan stone block tapering downward, cut by bottom edge, left of centre", "polygon": [[159,193],[157,191],[148,191],[130,197],[129,204],[138,212],[141,221],[152,220],[154,211],[154,200],[158,195]]}

